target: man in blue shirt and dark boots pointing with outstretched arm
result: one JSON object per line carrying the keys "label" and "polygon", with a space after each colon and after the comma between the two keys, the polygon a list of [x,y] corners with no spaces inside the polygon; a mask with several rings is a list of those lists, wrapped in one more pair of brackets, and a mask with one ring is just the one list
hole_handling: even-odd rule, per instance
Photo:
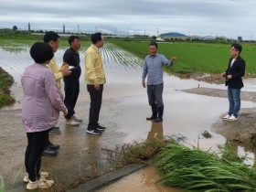
{"label": "man in blue shirt and dark boots pointing with outstretched arm", "polygon": [[143,86],[145,88],[145,78],[147,76],[148,102],[152,108],[151,117],[146,120],[153,120],[155,123],[163,122],[164,102],[163,102],[163,66],[172,66],[175,57],[170,60],[164,55],[157,53],[157,43],[149,44],[149,55],[144,59]]}

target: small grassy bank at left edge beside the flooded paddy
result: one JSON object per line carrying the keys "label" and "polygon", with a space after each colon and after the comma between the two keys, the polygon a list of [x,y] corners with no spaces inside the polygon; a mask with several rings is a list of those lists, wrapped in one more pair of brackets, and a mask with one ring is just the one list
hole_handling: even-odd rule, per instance
{"label": "small grassy bank at left edge beside the flooded paddy", "polygon": [[0,67],[0,108],[15,102],[9,90],[13,82],[13,77]]}

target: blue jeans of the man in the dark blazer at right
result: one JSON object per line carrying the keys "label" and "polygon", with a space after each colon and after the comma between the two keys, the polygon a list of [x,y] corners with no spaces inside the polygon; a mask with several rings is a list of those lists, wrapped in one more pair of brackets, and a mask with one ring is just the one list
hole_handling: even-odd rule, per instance
{"label": "blue jeans of the man in the dark blazer at right", "polygon": [[240,112],[240,89],[232,89],[228,86],[229,115],[239,116]]}

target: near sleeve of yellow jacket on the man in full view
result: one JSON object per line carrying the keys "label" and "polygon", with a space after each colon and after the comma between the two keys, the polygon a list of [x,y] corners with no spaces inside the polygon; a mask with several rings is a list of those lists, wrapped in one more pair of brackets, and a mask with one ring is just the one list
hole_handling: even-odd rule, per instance
{"label": "near sleeve of yellow jacket on the man in full view", "polygon": [[97,73],[95,69],[95,56],[91,52],[85,54],[86,75],[88,80],[97,84]]}

